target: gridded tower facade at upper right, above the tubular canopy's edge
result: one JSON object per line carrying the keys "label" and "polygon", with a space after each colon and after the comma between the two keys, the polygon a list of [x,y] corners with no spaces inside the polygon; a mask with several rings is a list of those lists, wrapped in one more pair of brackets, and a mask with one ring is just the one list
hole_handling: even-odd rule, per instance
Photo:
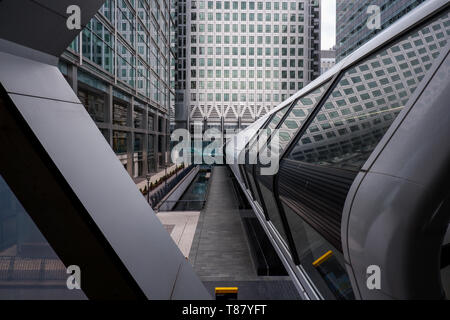
{"label": "gridded tower facade at upper right, above the tubular canopy's edge", "polygon": [[[372,39],[376,34],[393,24],[406,13],[426,0],[337,0],[336,1],[336,60],[348,56],[355,49]],[[432,1],[432,0],[428,0]],[[369,6],[378,6],[381,13],[381,28],[367,27]]]}

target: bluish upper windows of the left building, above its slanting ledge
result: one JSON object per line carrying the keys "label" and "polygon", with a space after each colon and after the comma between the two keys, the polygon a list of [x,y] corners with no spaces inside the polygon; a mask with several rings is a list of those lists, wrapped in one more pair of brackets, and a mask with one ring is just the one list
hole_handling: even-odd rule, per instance
{"label": "bluish upper windows of the left building, above its slanting ledge", "polygon": [[[136,6],[138,14],[146,16],[144,15],[147,13],[146,5],[139,1]],[[114,12],[111,1],[105,2],[100,9],[100,13],[106,17],[114,16]],[[169,89],[166,85],[169,84],[169,62],[166,56],[169,51],[163,37],[159,35],[161,31],[158,31],[153,20],[151,23],[147,20],[147,27],[138,23],[136,30],[134,13],[123,0],[118,3],[117,19],[117,31],[125,40],[124,43],[119,37],[115,39],[108,28],[94,17],[83,29],[82,48],[78,48],[78,37],[70,47],[80,52],[83,58],[96,63],[111,74],[116,74],[127,85],[136,88],[141,95],[167,108]],[[150,42],[147,32],[149,30],[152,31],[156,44]],[[117,47],[114,49],[115,44]],[[130,47],[136,49],[136,53]]]}

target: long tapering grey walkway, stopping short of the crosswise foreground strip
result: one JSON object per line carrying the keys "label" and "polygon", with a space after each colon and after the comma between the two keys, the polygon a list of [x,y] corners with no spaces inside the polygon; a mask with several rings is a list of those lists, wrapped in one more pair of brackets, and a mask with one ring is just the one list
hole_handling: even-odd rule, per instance
{"label": "long tapering grey walkway, stopping short of the crosswise foreground strip", "polygon": [[203,281],[257,279],[228,170],[213,167],[189,260]]}

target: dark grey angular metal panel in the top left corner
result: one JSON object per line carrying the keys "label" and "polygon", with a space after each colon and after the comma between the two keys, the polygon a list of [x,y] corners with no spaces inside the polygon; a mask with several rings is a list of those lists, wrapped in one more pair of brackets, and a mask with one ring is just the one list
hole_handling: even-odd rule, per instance
{"label": "dark grey angular metal panel in the top left corner", "polygon": [[59,57],[81,31],[67,28],[67,7],[80,7],[83,27],[103,3],[103,0],[0,1],[0,38]]}

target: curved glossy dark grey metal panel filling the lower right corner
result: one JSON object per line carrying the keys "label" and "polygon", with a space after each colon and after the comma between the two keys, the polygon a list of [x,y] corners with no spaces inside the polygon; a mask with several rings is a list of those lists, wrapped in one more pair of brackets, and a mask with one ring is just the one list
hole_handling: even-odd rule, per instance
{"label": "curved glossy dark grey metal panel filling the lower right corner", "polygon": [[[392,176],[366,175],[348,227],[349,261],[362,299],[445,297],[439,254],[446,229],[434,221],[435,191]],[[372,265],[380,267],[380,290],[366,284]]]}

